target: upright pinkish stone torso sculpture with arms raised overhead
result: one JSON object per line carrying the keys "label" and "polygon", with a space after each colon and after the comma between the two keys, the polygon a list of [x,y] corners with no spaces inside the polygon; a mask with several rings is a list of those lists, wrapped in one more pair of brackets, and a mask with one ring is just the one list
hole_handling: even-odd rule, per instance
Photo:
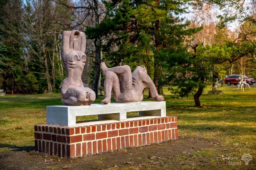
{"label": "upright pinkish stone torso sculpture with arms raised overhead", "polygon": [[64,31],[62,35],[61,56],[67,77],[61,85],[62,103],[66,105],[90,105],[95,100],[95,93],[86,88],[81,80],[86,55],[85,33]]}

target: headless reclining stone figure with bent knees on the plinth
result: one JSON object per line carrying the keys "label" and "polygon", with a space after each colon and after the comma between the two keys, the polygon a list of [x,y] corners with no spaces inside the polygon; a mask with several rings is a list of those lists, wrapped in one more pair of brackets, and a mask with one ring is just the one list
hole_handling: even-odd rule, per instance
{"label": "headless reclining stone figure with bent knees on the plinth", "polygon": [[[100,68],[105,77],[105,99],[101,103],[110,103],[111,92],[116,102],[140,102],[143,100],[142,92],[144,88],[149,89],[151,97],[156,101],[164,100],[163,96],[158,95],[156,86],[148,76],[145,66],[137,66],[133,72],[128,65],[108,68],[105,63],[101,63]],[[118,76],[120,76],[120,83]]]}

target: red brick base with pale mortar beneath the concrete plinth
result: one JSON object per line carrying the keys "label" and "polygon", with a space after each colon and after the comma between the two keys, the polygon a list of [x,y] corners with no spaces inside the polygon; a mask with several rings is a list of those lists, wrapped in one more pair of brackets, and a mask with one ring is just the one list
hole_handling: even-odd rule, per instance
{"label": "red brick base with pale mortar beneath the concrete plinth", "polygon": [[82,127],[35,125],[35,149],[74,158],[178,139],[177,127],[174,116]]}

